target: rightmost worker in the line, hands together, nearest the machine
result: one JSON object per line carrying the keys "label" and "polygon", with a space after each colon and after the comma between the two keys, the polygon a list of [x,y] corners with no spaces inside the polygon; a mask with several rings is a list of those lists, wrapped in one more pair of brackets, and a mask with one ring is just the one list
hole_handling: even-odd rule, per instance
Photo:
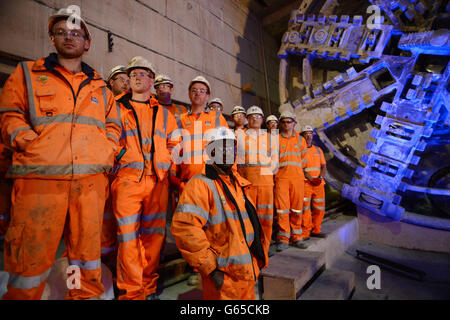
{"label": "rightmost worker in the line, hands together, nearest the machine", "polygon": [[[325,215],[325,180],[327,170],[322,149],[312,144],[314,129],[306,125],[302,128],[301,135],[306,140],[307,152],[305,154],[305,195],[303,202],[302,237],[325,238],[321,232],[322,220]],[[312,214],[311,214],[312,209]]]}

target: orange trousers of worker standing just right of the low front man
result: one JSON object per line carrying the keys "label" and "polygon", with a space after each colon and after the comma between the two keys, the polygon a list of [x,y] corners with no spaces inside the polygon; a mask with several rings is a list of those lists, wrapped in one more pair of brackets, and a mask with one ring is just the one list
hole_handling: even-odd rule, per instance
{"label": "orange trousers of worker standing just right of the low front man", "polygon": [[247,196],[254,200],[261,231],[264,234],[263,247],[267,251],[272,239],[273,223],[273,186],[250,186]]}

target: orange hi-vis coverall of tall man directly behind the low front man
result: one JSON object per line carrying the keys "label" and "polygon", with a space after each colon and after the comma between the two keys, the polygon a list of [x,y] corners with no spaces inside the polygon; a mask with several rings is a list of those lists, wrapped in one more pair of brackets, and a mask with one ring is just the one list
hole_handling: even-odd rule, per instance
{"label": "orange hi-vis coverall of tall man directly behind the low front man", "polygon": [[204,134],[213,128],[227,127],[228,124],[223,115],[216,111],[203,111],[199,116],[191,111],[183,113],[180,117],[182,129],[182,158],[177,165],[180,166],[180,194],[184,185],[196,174],[203,172],[205,159],[203,150],[206,146]]}

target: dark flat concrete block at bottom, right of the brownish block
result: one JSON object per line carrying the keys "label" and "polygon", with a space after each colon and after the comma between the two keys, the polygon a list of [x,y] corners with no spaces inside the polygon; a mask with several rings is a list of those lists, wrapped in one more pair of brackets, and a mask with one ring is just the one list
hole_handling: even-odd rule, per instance
{"label": "dark flat concrete block at bottom, right of the brownish block", "polygon": [[327,269],[298,300],[347,300],[354,288],[353,272]]}

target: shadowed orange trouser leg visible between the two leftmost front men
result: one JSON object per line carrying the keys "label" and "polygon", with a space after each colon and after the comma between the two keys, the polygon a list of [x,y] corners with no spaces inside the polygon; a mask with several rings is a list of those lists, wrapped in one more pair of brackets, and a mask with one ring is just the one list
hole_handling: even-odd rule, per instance
{"label": "shadowed orange trouser leg visible between the two leftmost front men", "polygon": [[[109,185],[113,177],[108,176]],[[102,225],[102,256],[114,255],[117,252],[117,222],[112,208],[112,194],[108,193],[105,203]]]}

